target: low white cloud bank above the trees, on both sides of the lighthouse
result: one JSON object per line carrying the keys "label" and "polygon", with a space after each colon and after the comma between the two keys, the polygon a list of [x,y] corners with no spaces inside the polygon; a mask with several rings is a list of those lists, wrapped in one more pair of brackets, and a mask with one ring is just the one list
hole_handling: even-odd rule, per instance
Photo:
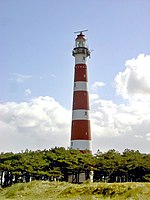
{"label": "low white cloud bank above the trees, on both sides of the lighthouse", "polygon": [[[150,102],[114,104],[93,98],[91,131],[93,152],[125,148],[149,152]],[[21,151],[70,145],[71,111],[54,98],[0,104],[0,151]]]}

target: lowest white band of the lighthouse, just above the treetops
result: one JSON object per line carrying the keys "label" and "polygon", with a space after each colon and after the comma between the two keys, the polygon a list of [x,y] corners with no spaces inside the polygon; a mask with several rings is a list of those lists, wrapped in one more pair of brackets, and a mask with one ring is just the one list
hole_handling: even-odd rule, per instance
{"label": "lowest white band of the lighthouse, just above the treetops", "polygon": [[71,140],[71,148],[92,151],[91,140]]}

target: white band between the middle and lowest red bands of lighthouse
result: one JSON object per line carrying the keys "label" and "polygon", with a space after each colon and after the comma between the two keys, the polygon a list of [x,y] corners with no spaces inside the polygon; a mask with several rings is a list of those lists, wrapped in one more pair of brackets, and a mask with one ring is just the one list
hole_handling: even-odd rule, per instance
{"label": "white band between the middle and lowest red bands of lighthouse", "polygon": [[89,110],[73,110],[72,120],[89,120]]}

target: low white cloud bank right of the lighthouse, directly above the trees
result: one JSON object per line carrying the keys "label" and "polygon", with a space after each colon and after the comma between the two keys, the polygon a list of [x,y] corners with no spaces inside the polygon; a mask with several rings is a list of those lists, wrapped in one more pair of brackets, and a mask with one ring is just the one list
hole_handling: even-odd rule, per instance
{"label": "low white cloud bank right of the lighthouse, directly above the trees", "polygon": [[114,104],[96,99],[91,105],[94,149],[125,148],[149,152],[150,102]]}

